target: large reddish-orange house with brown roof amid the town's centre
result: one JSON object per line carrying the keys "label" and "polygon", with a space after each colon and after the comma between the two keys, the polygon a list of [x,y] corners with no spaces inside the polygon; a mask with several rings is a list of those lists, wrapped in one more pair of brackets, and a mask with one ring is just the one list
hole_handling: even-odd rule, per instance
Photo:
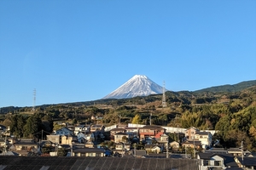
{"label": "large reddish-orange house with brown roof amid the town's centre", "polygon": [[157,133],[166,133],[166,129],[155,125],[146,125],[139,128],[139,135],[141,140],[144,140],[145,137],[155,138]]}

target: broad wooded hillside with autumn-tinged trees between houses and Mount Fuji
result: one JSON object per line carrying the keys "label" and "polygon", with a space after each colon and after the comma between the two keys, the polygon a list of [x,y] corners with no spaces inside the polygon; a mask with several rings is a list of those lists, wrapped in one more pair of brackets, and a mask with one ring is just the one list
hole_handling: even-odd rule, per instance
{"label": "broad wooded hillside with autumn-tinged trees between houses and Mount Fuji", "polygon": [[[239,147],[244,141],[248,150],[256,151],[256,86],[238,92],[167,91],[164,108],[162,94],[154,94],[131,99],[38,105],[35,111],[31,107],[5,107],[0,112],[0,124],[10,127],[11,133],[20,138],[31,137],[42,129],[51,133],[60,127],[58,122],[106,126],[151,122],[169,127],[218,130],[214,139],[220,141],[220,147]],[[34,125],[37,127],[31,128]]]}

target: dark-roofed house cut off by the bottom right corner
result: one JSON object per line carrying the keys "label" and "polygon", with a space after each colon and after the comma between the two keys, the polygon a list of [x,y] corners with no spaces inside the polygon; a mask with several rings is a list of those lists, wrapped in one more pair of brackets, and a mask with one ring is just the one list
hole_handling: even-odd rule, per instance
{"label": "dark-roofed house cut off by the bottom right corner", "polygon": [[256,169],[256,157],[236,156],[235,161],[238,167],[243,169]]}

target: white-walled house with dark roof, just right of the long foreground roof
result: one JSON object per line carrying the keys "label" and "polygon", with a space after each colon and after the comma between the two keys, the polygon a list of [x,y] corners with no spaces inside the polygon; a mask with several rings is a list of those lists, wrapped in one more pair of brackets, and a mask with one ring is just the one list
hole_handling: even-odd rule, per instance
{"label": "white-walled house with dark roof, just right of the long foreground roof", "polygon": [[230,154],[199,153],[197,159],[199,160],[199,170],[238,167],[234,156]]}

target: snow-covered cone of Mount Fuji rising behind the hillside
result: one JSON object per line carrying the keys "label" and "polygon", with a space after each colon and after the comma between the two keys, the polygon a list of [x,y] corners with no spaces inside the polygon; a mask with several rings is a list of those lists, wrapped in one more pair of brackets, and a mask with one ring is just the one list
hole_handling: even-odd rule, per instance
{"label": "snow-covered cone of Mount Fuji rising behind the hillside", "polygon": [[126,99],[150,94],[162,94],[163,88],[143,75],[135,75],[103,99]]}

